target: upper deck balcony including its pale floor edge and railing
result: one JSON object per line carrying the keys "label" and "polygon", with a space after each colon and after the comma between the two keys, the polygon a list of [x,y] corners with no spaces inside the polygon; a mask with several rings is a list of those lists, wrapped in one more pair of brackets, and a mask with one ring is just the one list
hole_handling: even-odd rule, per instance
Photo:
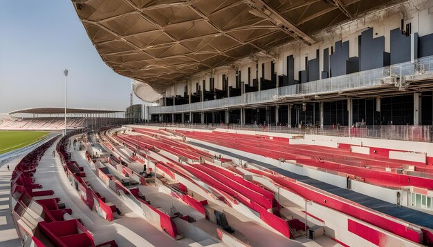
{"label": "upper deck balcony including its pale floor edge and railing", "polygon": [[353,95],[367,97],[381,93],[409,92],[421,87],[424,89],[433,88],[433,56],[339,77],[258,92],[247,92],[237,97],[178,106],[152,106],[149,107],[149,114],[201,112],[308,100],[321,101],[323,99],[347,98]]}

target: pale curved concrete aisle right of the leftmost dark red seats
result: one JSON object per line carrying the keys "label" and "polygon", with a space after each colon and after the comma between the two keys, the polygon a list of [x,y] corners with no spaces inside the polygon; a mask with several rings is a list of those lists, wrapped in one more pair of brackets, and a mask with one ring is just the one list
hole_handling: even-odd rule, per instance
{"label": "pale curved concrete aisle right of the leftmost dark red seats", "polygon": [[91,211],[69,184],[57,153],[55,158],[51,157],[56,144],[45,152],[35,172],[35,179],[44,189],[54,190],[55,197],[59,197],[67,208],[73,210],[73,217],[82,219],[84,226],[94,234],[95,244],[115,239],[119,246],[186,246],[135,213],[127,213],[110,222]]}

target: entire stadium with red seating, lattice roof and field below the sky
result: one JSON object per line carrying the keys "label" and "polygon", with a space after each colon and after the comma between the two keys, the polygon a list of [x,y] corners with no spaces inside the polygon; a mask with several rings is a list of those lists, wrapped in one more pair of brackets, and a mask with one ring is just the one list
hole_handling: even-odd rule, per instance
{"label": "entire stadium with red seating, lattice roof and field below the sky", "polygon": [[0,115],[0,246],[433,246],[433,1],[70,8],[130,101]]}

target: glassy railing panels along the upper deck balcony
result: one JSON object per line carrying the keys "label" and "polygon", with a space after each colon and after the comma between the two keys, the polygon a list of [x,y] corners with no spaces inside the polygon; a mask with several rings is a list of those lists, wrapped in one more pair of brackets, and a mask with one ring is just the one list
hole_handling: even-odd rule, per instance
{"label": "glassy railing panels along the upper deck balcony", "polygon": [[[201,110],[229,108],[232,106],[268,103],[290,97],[320,95],[331,92],[344,92],[349,90],[359,90],[362,88],[374,88],[378,86],[399,86],[398,81],[411,80],[417,75],[430,75],[433,77],[432,73],[433,56],[423,57],[421,59],[416,59],[414,62],[398,63],[392,66],[376,68],[373,70],[365,70],[349,75],[341,75],[339,77],[309,81],[306,83],[262,90],[258,92],[248,92],[238,97],[214,99],[211,101],[202,101],[179,106],[151,106],[149,107],[149,114],[194,112]],[[403,80],[400,80],[402,78]]]}

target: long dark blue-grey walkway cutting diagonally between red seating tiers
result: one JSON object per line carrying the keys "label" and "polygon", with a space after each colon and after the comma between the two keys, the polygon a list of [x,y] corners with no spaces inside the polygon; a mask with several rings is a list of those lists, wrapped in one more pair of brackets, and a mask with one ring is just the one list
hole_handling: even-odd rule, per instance
{"label": "long dark blue-grey walkway cutting diagonally between red seating tiers", "polygon": [[382,201],[382,200],[376,199],[374,197],[369,197],[367,195],[364,195],[364,194],[361,194],[358,192],[354,192],[353,190],[347,190],[344,188],[333,186],[331,184],[326,184],[322,181],[312,179],[311,177],[298,175],[294,172],[289,172],[289,171],[284,170],[282,168],[277,168],[276,166],[273,166],[271,164],[257,161],[255,159],[250,159],[250,158],[242,156],[242,155],[237,155],[234,152],[228,152],[228,151],[222,150],[220,148],[214,148],[212,146],[208,146],[205,144],[199,144],[199,143],[194,142],[194,141],[188,141],[188,143],[192,144],[194,146],[199,146],[201,148],[206,148],[208,150],[212,150],[214,152],[219,152],[223,155],[228,155],[230,157],[242,159],[243,161],[248,161],[248,162],[257,164],[259,166],[263,166],[264,168],[268,168],[270,170],[278,172],[281,175],[284,175],[286,177],[291,177],[291,178],[296,179],[298,181],[302,181],[305,184],[314,186],[315,188],[320,188],[321,190],[324,190],[326,192],[330,192],[333,195],[338,195],[339,197],[349,199],[349,200],[354,201],[354,202],[356,202],[362,206],[366,206],[367,208],[371,208],[373,210],[376,210],[380,213],[385,213],[387,215],[394,216],[398,219],[403,219],[404,221],[407,221],[407,222],[412,223],[412,224],[416,224],[418,226],[424,226],[426,228],[433,229],[433,215],[423,213],[421,211],[414,210],[412,208],[398,207],[398,206],[396,206],[396,204],[390,204],[387,201]]}

